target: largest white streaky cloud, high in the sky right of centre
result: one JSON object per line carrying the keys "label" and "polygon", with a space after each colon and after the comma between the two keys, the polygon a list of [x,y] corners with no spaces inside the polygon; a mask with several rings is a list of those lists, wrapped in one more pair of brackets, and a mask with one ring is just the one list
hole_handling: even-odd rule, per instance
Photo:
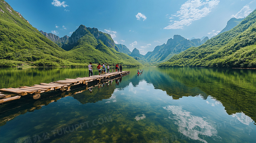
{"label": "largest white streaky cloud, high in the sky right of centre", "polygon": [[188,0],[169,18],[177,17],[179,20],[170,20],[171,23],[164,29],[182,29],[189,26],[193,21],[207,16],[219,2],[220,0]]}

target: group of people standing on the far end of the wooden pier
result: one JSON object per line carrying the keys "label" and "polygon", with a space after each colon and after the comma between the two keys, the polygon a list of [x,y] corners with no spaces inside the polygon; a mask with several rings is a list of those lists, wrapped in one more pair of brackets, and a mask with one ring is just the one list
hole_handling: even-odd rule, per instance
{"label": "group of people standing on the far end of the wooden pier", "polygon": [[[90,62],[90,64],[88,65],[88,68],[89,68],[89,77],[93,76],[92,62]],[[97,66],[97,70],[99,71],[99,75],[110,73],[109,72],[109,64],[107,64],[107,67],[106,67],[104,63],[102,65],[100,65],[100,63],[99,63]],[[123,70],[122,64],[120,64],[120,66],[119,66],[119,64],[117,63],[116,64],[116,72],[119,72],[119,71],[122,72],[122,70]],[[113,69],[112,69],[112,72],[114,72]]]}

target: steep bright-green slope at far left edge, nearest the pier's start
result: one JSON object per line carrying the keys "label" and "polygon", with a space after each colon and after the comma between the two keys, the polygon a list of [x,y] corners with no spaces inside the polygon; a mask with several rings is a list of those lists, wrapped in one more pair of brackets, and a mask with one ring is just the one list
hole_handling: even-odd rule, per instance
{"label": "steep bright-green slope at far left edge, nearest the pier's start", "polygon": [[45,61],[48,65],[70,62],[61,60],[64,50],[32,27],[23,16],[0,0],[0,59]]}

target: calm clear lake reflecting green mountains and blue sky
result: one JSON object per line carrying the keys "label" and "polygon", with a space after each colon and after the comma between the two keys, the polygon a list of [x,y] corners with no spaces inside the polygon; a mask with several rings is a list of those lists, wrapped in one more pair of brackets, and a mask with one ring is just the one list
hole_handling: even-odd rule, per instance
{"label": "calm clear lake reflecting green mountains and blue sky", "polygon": [[[123,67],[131,73],[91,91],[81,86],[0,104],[0,142],[256,142],[255,69],[141,67],[141,75],[137,69]],[[88,73],[0,68],[0,88]]]}

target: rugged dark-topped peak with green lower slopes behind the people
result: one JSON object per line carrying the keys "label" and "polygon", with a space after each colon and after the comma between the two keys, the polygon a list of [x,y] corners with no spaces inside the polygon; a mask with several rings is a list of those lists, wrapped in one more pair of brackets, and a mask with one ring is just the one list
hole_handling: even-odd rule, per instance
{"label": "rugged dark-topped peak with green lower slopes behind the people", "polygon": [[62,48],[71,49],[66,52],[67,55],[62,57],[71,62],[92,61],[93,63],[109,63],[111,65],[121,63],[125,66],[141,66],[134,58],[117,52],[118,47],[111,36],[98,31],[97,28],[80,25],[69,38],[69,43],[63,45]]}

